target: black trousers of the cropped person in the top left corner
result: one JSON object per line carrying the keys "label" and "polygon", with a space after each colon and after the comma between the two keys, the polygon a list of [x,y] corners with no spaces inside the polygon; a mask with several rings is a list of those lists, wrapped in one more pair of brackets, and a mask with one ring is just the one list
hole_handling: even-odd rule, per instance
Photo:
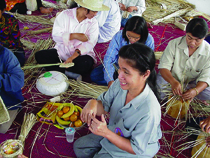
{"label": "black trousers of the cropped person in the top left corner", "polygon": [[[37,2],[37,8],[39,10],[40,7],[43,7],[42,5],[42,1],[41,0],[36,0]],[[19,14],[26,14],[27,12],[27,7],[26,7],[26,3],[16,3],[14,5],[14,7],[10,10],[10,12],[14,13],[14,12],[18,12]]]}

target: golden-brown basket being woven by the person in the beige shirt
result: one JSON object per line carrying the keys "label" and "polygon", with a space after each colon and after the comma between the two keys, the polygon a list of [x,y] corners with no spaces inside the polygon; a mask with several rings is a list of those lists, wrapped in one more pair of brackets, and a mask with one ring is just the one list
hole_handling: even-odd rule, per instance
{"label": "golden-brown basket being woven by the person in the beige shirt", "polygon": [[[169,97],[170,99],[170,97]],[[170,105],[172,104],[172,105]],[[184,118],[188,112],[189,109],[189,104],[190,101],[183,101],[182,98],[180,97],[179,100],[170,100],[167,103],[167,106],[170,105],[170,108],[168,110],[168,114],[173,117],[173,118],[177,118],[179,117],[180,119]]]}

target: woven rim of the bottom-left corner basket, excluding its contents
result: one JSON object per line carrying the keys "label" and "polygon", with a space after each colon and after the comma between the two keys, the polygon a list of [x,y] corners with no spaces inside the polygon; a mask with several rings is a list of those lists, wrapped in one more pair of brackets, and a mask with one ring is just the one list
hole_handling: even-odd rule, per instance
{"label": "woven rim of the bottom-left corner basket, excluding its contents", "polygon": [[[14,143],[17,144],[16,146],[18,147],[18,149],[12,154],[6,154],[4,152],[4,149],[7,146],[9,146],[11,144],[14,144]],[[19,154],[23,153],[23,144],[22,144],[22,142],[20,140],[8,139],[8,140],[6,140],[6,141],[1,143],[1,145],[0,145],[0,153],[2,154],[2,156],[4,158],[17,158]]]}

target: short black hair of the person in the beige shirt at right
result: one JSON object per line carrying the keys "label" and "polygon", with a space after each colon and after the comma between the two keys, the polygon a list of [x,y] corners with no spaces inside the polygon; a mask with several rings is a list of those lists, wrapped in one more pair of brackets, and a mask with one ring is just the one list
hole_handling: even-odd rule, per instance
{"label": "short black hair of the person in the beige shirt at right", "polygon": [[193,18],[187,24],[186,33],[191,33],[194,37],[202,39],[208,33],[208,24],[202,18]]}

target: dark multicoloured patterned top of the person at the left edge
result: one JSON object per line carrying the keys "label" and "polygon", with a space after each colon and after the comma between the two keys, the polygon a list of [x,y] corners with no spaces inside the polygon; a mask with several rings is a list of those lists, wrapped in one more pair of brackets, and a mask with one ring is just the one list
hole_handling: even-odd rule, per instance
{"label": "dark multicoloured patterned top of the person at the left edge", "polygon": [[9,49],[22,48],[18,20],[13,15],[2,14],[0,19],[0,45]]}

